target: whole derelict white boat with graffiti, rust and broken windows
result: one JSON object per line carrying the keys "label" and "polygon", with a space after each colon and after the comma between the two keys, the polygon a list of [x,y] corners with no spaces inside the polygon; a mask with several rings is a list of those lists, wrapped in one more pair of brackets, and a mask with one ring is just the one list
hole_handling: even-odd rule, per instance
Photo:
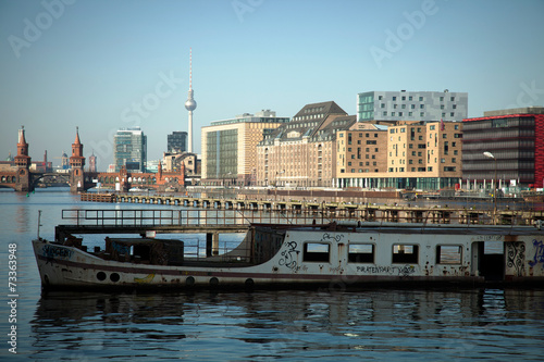
{"label": "whole derelict white boat with graffiti, rust and broken windows", "polygon": [[544,285],[544,233],[534,226],[332,223],[243,228],[244,240],[223,254],[212,244],[221,229],[210,229],[208,258],[186,254],[186,234],[181,240],[106,237],[104,248],[92,251],[82,238],[62,233],[58,241],[38,238],[33,245],[42,286],[55,289]]}

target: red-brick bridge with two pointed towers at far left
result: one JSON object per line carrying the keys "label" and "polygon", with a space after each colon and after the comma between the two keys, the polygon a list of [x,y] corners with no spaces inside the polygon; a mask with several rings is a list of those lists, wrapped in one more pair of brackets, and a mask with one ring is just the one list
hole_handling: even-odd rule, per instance
{"label": "red-brick bridge with two pointed towers at far left", "polygon": [[79,132],[76,129],[75,141],[72,143],[70,170],[65,173],[42,173],[32,170],[28,143],[25,129],[18,130],[17,155],[10,165],[0,168],[0,188],[12,188],[15,191],[33,191],[41,180],[54,178],[70,186],[72,192],[86,191],[100,184],[101,187],[127,191],[133,187],[143,189],[171,189],[178,191],[185,187],[185,166],[182,163],[177,172],[163,172],[159,164],[157,173],[131,173],[125,167],[118,173],[85,172],[85,157]]}

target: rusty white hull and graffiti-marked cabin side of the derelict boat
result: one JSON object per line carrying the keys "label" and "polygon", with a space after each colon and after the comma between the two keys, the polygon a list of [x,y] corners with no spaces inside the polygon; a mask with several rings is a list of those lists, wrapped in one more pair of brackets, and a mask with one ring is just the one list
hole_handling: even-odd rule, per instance
{"label": "rusty white hull and graffiti-marked cabin side of the derelict boat", "polygon": [[[544,285],[544,236],[533,230],[519,235],[506,228],[495,234],[446,228],[417,233],[413,227],[288,230],[268,260],[226,266],[104,260],[78,247],[42,239],[34,240],[33,247],[47,289]],[[489,241],[503,246],[503,253],[484,255]],[[458,250],[453,261],[441,260],[445,249]]]}

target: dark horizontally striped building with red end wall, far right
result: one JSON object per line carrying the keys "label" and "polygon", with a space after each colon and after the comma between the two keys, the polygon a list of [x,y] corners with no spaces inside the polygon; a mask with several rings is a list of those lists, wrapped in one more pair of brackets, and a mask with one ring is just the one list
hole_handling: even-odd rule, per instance
{"label": "dark horizontally striped building with red end wall, far right", "polygon": [[484,112],[462,123],[462,178],[469,186],[544,187],[543,107]]}

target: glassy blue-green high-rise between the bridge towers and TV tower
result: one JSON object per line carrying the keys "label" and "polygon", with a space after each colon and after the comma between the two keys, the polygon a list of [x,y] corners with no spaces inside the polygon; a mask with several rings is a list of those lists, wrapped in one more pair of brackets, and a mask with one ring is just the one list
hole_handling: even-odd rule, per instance
{"label": "glassy blue-green high-rise between the bridge towers and TV tower", "polygon": [[147,136],[140,127],[121,128],[113,136],[115,172],[125,166],[128,172],[146,172]]}

